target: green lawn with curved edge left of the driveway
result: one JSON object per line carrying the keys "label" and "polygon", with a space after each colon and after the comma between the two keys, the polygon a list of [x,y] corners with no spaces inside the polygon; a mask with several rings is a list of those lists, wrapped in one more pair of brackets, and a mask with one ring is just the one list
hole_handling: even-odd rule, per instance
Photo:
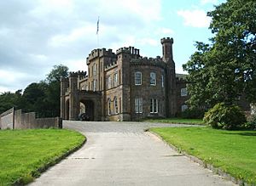
{"label": "green lawn with curved edge left of the driveway", "polygon": [[84,138],[65,129],[0,130],[0,185],[32,182]]}

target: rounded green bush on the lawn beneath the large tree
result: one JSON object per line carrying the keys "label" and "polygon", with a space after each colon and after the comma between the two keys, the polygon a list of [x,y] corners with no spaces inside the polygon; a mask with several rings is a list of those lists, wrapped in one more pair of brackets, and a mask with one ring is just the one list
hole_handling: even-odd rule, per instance
{"label": "rounded green bush on the lawn beneath the large tree", "polygon": [[206,112],[203,121],[213,128],[231,130],[241,127],[247,120],[240,107],[219,103]]}

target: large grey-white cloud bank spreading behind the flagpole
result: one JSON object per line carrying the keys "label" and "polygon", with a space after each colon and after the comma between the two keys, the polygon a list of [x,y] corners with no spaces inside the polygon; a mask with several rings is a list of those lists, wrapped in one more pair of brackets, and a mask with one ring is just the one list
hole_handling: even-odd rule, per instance
{"label": "large grey-white cloud bank spreading behind the flagpole", "polygon": [[142,38],[151,38],[145,33],[162,19],[160,8],[160,0],[0,1],[0,92],[44,80],[53,65],[86,70],[94,48],[154,45]]}

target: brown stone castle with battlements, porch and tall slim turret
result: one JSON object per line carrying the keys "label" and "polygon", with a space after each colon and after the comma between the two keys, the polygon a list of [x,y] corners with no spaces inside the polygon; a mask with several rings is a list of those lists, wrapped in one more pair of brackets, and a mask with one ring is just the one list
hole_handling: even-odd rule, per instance
{"label": "brown stone castle with battlements, porch and tall slim turret", "polygon": [[162,57],[147,58],[137,48],[95,49],[87,57],[88,74],[61,79],[61,118],[90,121],[139,121],[172,117],[186,109],[186,83],[175,73],[170,37],[162,38]]}

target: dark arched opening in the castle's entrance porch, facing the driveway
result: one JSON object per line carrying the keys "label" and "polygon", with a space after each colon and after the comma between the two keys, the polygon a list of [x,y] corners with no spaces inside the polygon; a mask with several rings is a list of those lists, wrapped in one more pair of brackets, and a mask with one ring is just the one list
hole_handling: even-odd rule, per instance
{"label": "dark arched opening in the castle's entrance porch, facing the driveway", "polygon": [[85,113],[86,120],[95,121],[94,102],[90,99],[80,100],[80,114]]}

